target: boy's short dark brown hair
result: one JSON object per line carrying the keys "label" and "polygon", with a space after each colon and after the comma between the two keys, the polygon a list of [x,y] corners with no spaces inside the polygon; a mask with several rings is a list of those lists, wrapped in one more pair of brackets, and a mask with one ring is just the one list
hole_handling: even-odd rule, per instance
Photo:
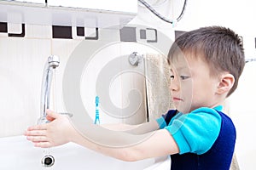
{"label": "boy's short dark brown hair", "polygon": [[209,26],[183,33],[172,44],[168,63],[180,53],[202,57],[210,67],[211,76],[218,76],[222,71],[229,72],[235,77],[235,83],[227,96],[236,90],[245,57],[241,37],[234,31],[221,26]]}

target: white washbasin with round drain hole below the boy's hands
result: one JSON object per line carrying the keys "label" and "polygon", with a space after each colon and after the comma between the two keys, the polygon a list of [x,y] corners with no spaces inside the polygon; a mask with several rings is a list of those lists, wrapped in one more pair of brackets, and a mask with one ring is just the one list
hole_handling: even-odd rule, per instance
{"label": "white washbasin with round drain hole below the boy's hands", "polygon": [[[52,167],[43,167],[41,160],[45,152],[55,158]],[[0,169],[1,170],[141,170],[170,169],[170,158],[161,157],[143,161],[119,161],[88,150],[79,144],[68,143],[47,149],[36,148],[26,140],[25,136],[0,138]]]}

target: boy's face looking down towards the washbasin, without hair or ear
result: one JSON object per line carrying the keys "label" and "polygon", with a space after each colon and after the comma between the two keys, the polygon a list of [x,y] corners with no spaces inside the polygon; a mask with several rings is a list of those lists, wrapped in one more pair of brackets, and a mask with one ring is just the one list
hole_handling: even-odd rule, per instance
{"label": "boy's face looking down towards the washbasin, without hair or ear", "polygon": [[200,107],[218,105],[218,78],[210,77],[210,69],[200,57],[180,54],[171,63],[172,103],[177,111],[189,113]]}

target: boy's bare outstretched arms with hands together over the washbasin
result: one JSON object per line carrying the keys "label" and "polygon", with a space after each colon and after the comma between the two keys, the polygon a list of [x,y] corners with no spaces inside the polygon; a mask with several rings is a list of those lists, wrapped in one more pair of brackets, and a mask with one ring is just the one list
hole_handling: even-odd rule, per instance
{"label": "boy's bare outstretched arms with hands together over the washbasin", "polygon": [[[90,138],[85,138],[81,133],[75,130],[67,116],[61,116],[52,112],[48,112],[48,115],[53,117],[54,120],[52,122],[29,127],[25,133],[27,139],[31,140],[37,147],[47,148],[66,144],[67,142],[74,142],[90,150],[96,150],[104,155],[112,156],[123,161],[137,161],[149,157],[166,156],[179,152],[176,142],[166,129],[156,130],[148,134],[117,132],[118,135],[116,138],[110,138],[108,134],[100,136],[100,139],[103,141],[110,139],[112,141],[118,141],[119,143],[125,143],[127,140],[143,137],[136,144],[114,147],[106,144],[98,144],[90,140]],[[146,123],[146,125],[151,127],[150,123]],[[143,128],[144,126],[142,129]]]}

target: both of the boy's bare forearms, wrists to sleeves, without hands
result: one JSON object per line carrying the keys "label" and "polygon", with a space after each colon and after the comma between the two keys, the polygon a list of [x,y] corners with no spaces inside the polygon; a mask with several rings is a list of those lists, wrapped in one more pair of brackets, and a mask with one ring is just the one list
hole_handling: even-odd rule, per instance
{"label": "both of the boy's bare forearms, wrists to sleeves, without hands", "polygon": [[[90,150],[100,152],[105,156],[111,156],[122,161],[139,161],[149,157],[166,156],[178,153],[177,144],[172,139],[170,133],[165,129],[156,130],[153,133],[148,133],[146,135],[120,132],[115,138],[109,134],[101,137],[104,140],[104,144],[100,144],[99,141],[94,141],[93,139],[90,139],[89,136],[86,137],[82,133],[73,133],[72,142],[83,145]],[[135,142],[131,143],[132,139],[136,139],[137,141],[133,140]],[[123,145],[108,145],[106,140],[112,140],[113,143],[118,141],[118,143]],[[127,141],[129,141],[130,144],[128,144]],[[153,145],[154,148],[152,148]]]}

